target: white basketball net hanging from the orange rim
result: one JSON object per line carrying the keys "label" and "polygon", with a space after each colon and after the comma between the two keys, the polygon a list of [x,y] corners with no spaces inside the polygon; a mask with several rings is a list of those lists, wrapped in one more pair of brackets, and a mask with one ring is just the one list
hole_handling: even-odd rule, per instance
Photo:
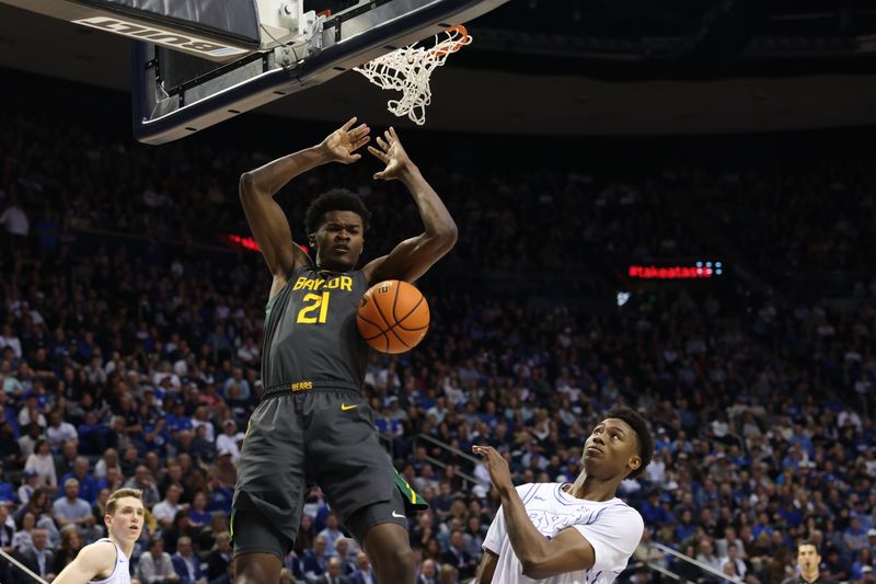
{"label": "white basketball net hanging from the orange rim", "polygon": [[[447,35],[446,38],[440,38]],[[433,71],[447,61],[448,55],[468,44],[472,37],[461,24],[435,35],[435,46],[424,48],[411,45],[388,53],[360,67],[355,67],[381,89],[401,91],[400,100],[387,102],[387,108],[399,117],[407,116],[422,126],[426,122],[426,106],[431,102],[429,78]]]}

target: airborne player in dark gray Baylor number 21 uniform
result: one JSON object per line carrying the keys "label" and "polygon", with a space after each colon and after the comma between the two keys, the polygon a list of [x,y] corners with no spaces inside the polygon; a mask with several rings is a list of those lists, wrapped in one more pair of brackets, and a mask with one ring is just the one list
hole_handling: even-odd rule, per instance
{"label": "airborne player in dark gray Baylor number 21 uniform", "polygon": [[405,507],[420,501],[394,472],[362,399],[369,348],[356,329],[356,308],[373,283],[425,274],[453,247],[456,224],[392,128],[377,138],[378,148],[368,148],[385,164],[374,179],[401,181],[425,229],[389,255],[356,268],[370,213],[349,191],[320,195],[308,209],[315,262],[292,241],[274,201],[301,173],[359,160],[356,151],[370,140],[370,129],[354,124],[355,117],[319,146],[241,176],[243,210],[274,280],[262,358],[265,393],[250,420],[234,493],[237,584],[277,582],[314,483],[365,548],[378,582],[415,581]]}

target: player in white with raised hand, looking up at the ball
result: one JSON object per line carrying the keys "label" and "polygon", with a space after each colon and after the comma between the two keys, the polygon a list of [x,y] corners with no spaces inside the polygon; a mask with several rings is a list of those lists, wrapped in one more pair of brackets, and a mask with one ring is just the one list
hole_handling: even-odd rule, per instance
{"label": "player in white with raised hand, looking up at the ball", "polygon": [[472,449],[484,458],[502,501],[484,538],[476,584],[611,584],[626,568],[644,522],[615,493],[654,454],[654,438],[638,413],[615,408],[597,424],[572,484],[515,489],[502,455],[488,446]]}

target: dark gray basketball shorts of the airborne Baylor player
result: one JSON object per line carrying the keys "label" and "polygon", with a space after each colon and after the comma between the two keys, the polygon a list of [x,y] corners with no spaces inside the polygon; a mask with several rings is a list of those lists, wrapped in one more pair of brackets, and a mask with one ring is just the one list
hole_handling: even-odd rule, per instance
{"label": "dark gray basketball shorts of the airborne Baylor player", "polygon": [[266,396],[250,419],[232,503],[234,556],[285,558],[304,496],[318,484],[361,543],[381,523],[407,528],[405,496],[380,446],[373,412],[353,390],[289,390]]}

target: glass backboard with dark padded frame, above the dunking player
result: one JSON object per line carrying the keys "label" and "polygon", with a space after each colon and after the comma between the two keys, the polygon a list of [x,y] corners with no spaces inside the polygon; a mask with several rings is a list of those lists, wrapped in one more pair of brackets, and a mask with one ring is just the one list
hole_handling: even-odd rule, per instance
{"label": "glass backboard with dark padded frame, above the dunking player", "polygon": [[372,0],[331,15],[303,12],[300,2],[286,2],[297,11],[286,41],[226,64],[135,42],[135,137],[153,145],[182,138],[323,83],[507,1]]}

